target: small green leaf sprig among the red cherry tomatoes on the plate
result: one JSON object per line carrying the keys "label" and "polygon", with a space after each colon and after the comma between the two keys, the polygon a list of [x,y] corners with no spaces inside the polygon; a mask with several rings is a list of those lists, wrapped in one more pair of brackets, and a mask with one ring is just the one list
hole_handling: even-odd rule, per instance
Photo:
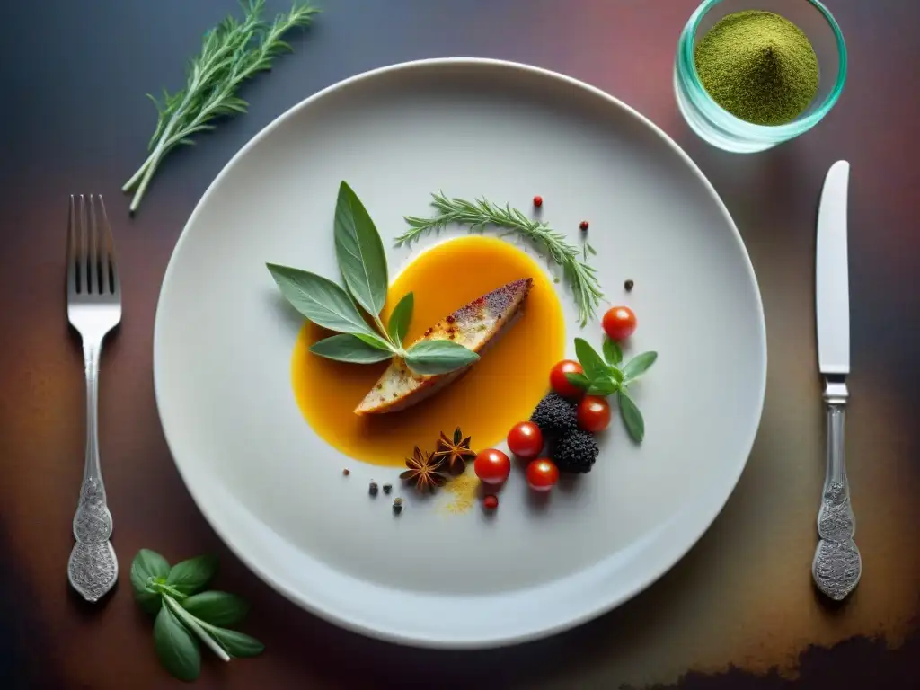
{"label": "small green leaf sprig among the red cherry tomatoes on the plate", "polygon": [[575,339],[575,354],[584,374],[566,374],[569,383],[577,385],[589,396],[616,396],[620,416],[629,435],[636,443],[645,438],[645,420],[636,401],[629,397],[628,387],[649,371],[658,352],[642,352],[623,364],[623,351],[615,340],[604,338],[604,356],[582,338]]}

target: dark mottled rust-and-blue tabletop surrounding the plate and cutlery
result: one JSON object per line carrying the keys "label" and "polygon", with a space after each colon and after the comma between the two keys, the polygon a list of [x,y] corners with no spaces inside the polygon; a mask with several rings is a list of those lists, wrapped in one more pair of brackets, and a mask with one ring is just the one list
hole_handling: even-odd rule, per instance
{"label": "dark mottled rust-and-blue tabletop surrounding the plate and cutlery", "polygon": [[[121,183],[144,157],[147,91],[184,84],[202,32],[230,0],[46,0],[5,7],[0,42],[0,685],[178,685],[155,660],[127,568],[141,546],[173,560],[213,551],[219,585],[253,604],[255,661],[204,663],[201,687],[647,686],[747,690],[906,688],[920,678],[920,4],[828,0],[846,36],[843,98],[814,131],[755,156],[688,130],[672,92],[676,40],[695,0],[325,0],[295,54],[247,86],[250,112],[174,155],[130,219]],[[282,9],[284,0],[269,0]],[[288,604],[230,556],[190,500],[156,415],[156,298],[183,224],[249,137],[297,101],[366,69],[477,55],[600,86],[650,117],[702,167],[739,225],[764,294],[769,380],[761,431],[725,511],[668,575],[589,625],[483,653],[358,638]],[[847,451],[865,576],[842,606],[809,568],[822,483],[812,313],[814,221],[827,168],[852,165],[852,407]],[[69,592],[82,472],[81,356],[65,320],[64,210],[101,192],[125,316],[102,364],[101,449],[120,587],[89,607]],[[692,306],[692,305],[688,305]],[[705,305],[704,305],[705,306]]]}

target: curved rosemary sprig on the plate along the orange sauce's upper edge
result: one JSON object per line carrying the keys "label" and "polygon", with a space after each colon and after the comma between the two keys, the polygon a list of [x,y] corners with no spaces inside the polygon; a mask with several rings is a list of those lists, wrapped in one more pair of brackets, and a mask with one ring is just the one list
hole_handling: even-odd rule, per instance
{"label": "curved rosemary sprig on the plate along the orange sauce's upper edge", "polygon": [[[604,297],[597,272],[579,258],[581,249],[570,245],[562,233],[553,230],[549,224],[531,220],[517,209],[512,209],[511,205],[502,208],[485,199],[449,199],[443,192],[432,194],[431,198],[431,205],[439,213],[432,218],[405,216],[409,229],[397,237],[397,247],[451,223],[468,225],[470,232],[482,232],[487,225],[506,228],[541,247],[562,268],[579,308],[581,326],[585,326],[594,317],[594,310]],[[583,258],[587,259],[587,253]]]}

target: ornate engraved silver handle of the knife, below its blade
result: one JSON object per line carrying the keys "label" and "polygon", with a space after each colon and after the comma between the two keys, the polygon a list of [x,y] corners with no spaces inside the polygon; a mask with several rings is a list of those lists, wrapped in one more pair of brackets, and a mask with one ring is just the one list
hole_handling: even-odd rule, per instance
{"label": "ornate engraved silver handle of the knife, below its blade", "polygon": [[811,576],[818,589],[834,601],[853,592],[862,575],[862,558],[853,536],[856,517],[850,507],[850,488],[844,460],[846,384],[828,380],[824,387],[827,410],[827,473],[824,477],[818,535],[821,537],[811,563]]}

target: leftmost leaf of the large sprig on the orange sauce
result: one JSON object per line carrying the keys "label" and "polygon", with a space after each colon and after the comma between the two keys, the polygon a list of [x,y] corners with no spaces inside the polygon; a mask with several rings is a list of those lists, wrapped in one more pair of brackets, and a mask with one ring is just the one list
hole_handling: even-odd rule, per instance
{"label": "leftmost leaf of the large sprig on the orange sauce", "polygon": [[267,266],[284,298],[316,326],[339,333],[374,335],[351,297],[336,283],[307,270],[273,263]]}

